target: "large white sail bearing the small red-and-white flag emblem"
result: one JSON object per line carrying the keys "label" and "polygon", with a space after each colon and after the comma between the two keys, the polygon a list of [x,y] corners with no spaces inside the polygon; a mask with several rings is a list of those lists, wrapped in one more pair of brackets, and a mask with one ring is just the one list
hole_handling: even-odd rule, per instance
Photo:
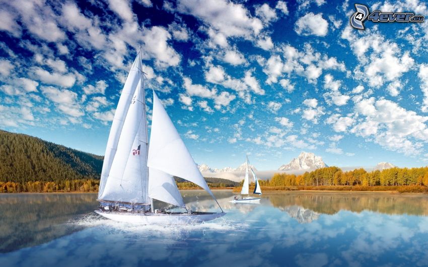
{"label": "large white sail bearing the small red-and-white flag emblem", "polygon": [[144,89],[137,84],[123,123],[102,200],[150,203],[147,193],[147,137]]}

